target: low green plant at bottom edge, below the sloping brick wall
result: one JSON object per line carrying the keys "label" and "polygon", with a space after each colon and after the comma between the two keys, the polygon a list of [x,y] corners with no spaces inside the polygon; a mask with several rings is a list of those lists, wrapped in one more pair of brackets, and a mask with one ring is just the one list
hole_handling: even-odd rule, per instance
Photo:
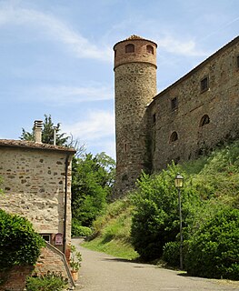
{"label": "low green plant at bottom edge, below the sloping brick wall", "polygon": [[48,272],[46,275],[30,276],[26,280],[26,291],[61,291],[68,285],[62,275]]}

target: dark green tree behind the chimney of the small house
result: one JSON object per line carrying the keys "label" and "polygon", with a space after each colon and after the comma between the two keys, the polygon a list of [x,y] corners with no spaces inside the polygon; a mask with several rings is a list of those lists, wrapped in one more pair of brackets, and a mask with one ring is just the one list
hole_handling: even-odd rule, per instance
{"label": "dark green tree behind the chimney of the small house", "polygon": [[[60,123],[57,123],[56,125],[54,125],[51,115],[45,115],[45,121],[43,124],[43,132],[42,132],[43,143],[53,145],[54,130],[55,130],[57,146],[72,146],[72,143],[70,143],[69,141],[70,136],[65,135],[65,133],[60,133],[61,131],[60,127],[61,127]],[[34,141],[35,140],[34,128],[32,129],[32,132],[27,132],[23,128],[23,132],[20,138],[23,140]]]}

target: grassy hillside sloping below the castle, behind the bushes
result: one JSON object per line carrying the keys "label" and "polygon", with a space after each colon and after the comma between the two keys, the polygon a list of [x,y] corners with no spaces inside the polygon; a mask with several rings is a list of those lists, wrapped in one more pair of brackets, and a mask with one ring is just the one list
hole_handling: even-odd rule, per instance
{"label": "grassy hillside sloping below the castle, behind the bushes", "polygon": [[[195,214],[192,227],[197,225],[196,220],[199,223],[202,217],[206,219],[212,211],[217,211],[217,207],[239,208],[239,142],[176,167],[183,173],[187,187],[206,202],[204,209]],[[107,206],[105,215],[94,223],[95,238],[85,246],[114,256],[136,258],[130,237],[133,211],[130,196]]]}

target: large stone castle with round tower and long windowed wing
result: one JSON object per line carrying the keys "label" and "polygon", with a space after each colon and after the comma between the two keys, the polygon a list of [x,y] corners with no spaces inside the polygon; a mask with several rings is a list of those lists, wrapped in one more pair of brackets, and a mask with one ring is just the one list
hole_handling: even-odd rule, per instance
{"label": "large stone castle with round tower and long windowed wing", "polygon": [[239,137],[239,36],[158,95],[154,42],[133,35],[114,50],[118,195],[142,169],[159,171]]}

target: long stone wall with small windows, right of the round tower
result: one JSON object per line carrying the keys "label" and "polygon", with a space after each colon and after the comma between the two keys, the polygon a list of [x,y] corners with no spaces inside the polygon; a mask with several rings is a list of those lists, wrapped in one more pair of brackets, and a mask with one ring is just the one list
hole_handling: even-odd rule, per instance
{"label": "long stone wall with small windows, right of the round tower", "polygon": [[[149,106],[154,171],[239,137],[238,55],[237,38],[154,98]],[[204,76],[209,89],[201,92]],[[178,106],[172,110],[174,97]],[[210,122],[201,126],[204,115]],[[178,139],[172,141],[174,132]]]}

